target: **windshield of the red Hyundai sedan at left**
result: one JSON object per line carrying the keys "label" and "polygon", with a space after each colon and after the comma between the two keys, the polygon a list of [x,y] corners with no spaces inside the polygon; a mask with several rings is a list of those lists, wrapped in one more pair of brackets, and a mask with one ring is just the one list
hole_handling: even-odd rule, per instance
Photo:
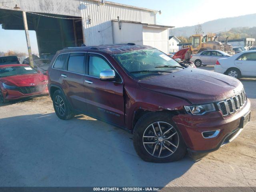
{"label": "windshield of the red Hyundai sedan at left", "polygon": [[10,66],[0,67],[0,77],[8,77],[15,75],[26,75],[38,73],[35,69],[30,66]]}

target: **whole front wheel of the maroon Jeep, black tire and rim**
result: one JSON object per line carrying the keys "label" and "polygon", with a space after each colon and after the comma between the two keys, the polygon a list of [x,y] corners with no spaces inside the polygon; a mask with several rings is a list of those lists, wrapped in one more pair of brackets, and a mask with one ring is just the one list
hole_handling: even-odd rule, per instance
{"label": "whole front wheel of the maroon Jeep, black tire and rim", "polygon": [[142,160],[157,163],[180,160],[187,149],[172,115],[167,112],[150,112],[142,116],[134,126],[133,144]]}

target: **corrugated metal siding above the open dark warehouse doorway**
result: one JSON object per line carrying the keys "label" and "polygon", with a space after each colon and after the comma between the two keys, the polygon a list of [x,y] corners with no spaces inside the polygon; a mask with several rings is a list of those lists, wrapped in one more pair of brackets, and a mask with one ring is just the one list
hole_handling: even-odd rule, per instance
{"label": "corrugated metal siding above the open dark warehouse doorway", "polygon": [[81,17],[80,0],[0,0],[0,9],[12,9],[15,4],[26,12]]}

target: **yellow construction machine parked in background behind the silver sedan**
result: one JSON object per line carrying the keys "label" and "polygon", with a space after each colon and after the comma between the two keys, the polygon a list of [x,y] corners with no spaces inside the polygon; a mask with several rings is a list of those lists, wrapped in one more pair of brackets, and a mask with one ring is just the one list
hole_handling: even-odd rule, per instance
{"label": "yellow construction machine parked in background behind the silver sedan", "polygon": [[198,34],[192,35],[190,38],[192,39],[192,45],[185,46],[184,48],[190,48],[192,54],[197,54],[204,50],[221,50],[228,54],[234,54],[233,46],[228,44],[228,37],[224,44],[218,41],[216,34]]}

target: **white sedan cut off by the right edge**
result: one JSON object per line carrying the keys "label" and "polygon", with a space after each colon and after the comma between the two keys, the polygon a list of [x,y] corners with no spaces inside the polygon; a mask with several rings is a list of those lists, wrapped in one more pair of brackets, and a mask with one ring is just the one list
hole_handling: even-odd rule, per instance
{"label": "white sedan cut off by the right edge", "polygon": [[218,59],[214,71],[234,78],[256,76],[256,50],[243,51],[229,58]]}

